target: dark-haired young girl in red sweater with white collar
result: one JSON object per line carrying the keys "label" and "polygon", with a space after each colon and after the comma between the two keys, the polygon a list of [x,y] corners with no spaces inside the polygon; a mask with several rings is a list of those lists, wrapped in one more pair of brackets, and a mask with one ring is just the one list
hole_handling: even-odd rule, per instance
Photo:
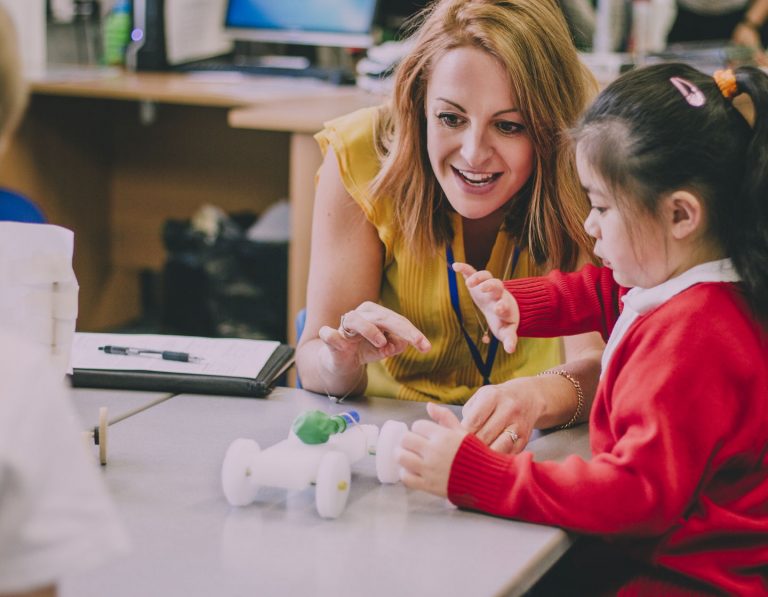
{"label": "dark-haired young girl in red sweater with white collar", "polygon": [[601,93],[575,138],[605,267],[502,287],[457,266],[508,349],[517,334],[607,338],[593,456],[496,453],[430,404],[436,422],[403,440],[407,486],[626,548],[617,584],[606,568],[585,572],[602,589],[768,593],[767,111],[768,76],[754,68],[716,82],[657,65]]}

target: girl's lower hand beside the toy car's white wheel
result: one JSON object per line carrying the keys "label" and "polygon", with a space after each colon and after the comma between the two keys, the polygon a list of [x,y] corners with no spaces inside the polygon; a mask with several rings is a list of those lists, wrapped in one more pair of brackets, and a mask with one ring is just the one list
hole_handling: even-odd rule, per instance
{"label": "girl's lower hand beside the toy car's white wheel", "polygon": [[430,402],[427,414],[432,421],[416,421],[403,436],[397,456],[400,478],[410,489],[446,497],[451,465],[467,431],[444,406]]}

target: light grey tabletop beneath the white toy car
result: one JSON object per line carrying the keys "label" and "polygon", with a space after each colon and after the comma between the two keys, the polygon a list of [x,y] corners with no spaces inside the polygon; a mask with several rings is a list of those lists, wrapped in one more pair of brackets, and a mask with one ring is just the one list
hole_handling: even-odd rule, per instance
{"label": "light grey tabletop beneath the white toy car", "polygon": [[[74,392],[84,428],[96,423],[99,406],[114,416],[157,396]],[[520,595],[571,545],[557,528],[459,511],[447,500],[381,485],[373,457],[352,466],[338,519],[319,517],[311,488],[262,488],[250,506],[230,507],[219,480],[228,445],[249,437],[268,447],[285,438],[297,414],[315,408],[355,408],[363,422],[378,425],[425,416],[421,403],[334,405],[277,388],[267,399],[176,396],[126,419],[110,428],[103,474],[135,550],[65,579],[62,597]],[[529,448],[536,458],[587,455],[586,426]]]}

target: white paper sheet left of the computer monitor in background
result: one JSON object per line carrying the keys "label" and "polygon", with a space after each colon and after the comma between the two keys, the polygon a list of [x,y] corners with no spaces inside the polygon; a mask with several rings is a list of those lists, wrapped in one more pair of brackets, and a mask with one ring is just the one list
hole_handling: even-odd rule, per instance
{"label": "white paper sheet left of the computer monitor in background", "polygon": [[165,0],[165,55],[171,65],[226,54],[226,0]]}

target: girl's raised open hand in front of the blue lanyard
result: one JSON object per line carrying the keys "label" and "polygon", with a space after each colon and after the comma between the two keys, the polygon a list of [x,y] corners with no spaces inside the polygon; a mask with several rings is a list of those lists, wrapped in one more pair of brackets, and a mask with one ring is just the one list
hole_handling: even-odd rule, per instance
{"label": "girl's raised open hand in front of the blue lanyard", "polygon": [[464,276],[469,294],[483,312],[488,327],[508,353],[517,348],[517,327],[520,325],[520,309],[517,301],[498,278],[490,272],[478,272],[467,263],[454,263],[454,271]]}

